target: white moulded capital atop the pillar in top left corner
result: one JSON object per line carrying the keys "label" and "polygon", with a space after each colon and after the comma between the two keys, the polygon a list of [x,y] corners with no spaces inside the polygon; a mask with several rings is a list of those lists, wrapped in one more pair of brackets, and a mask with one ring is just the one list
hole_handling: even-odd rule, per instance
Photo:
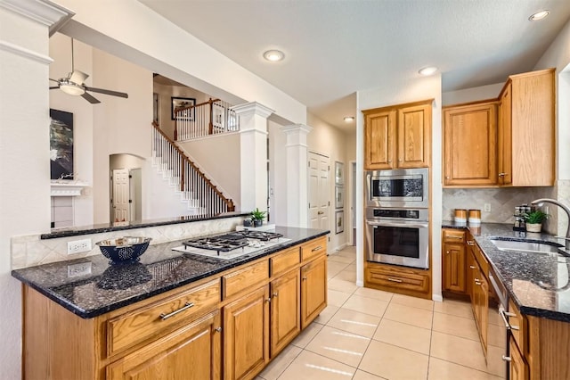
{"label": "white moulded capital atop the pillar in top left corner", "polygon": [[75,15],[50,0],[0,0],[0,7],[47,26],[50,37]]}

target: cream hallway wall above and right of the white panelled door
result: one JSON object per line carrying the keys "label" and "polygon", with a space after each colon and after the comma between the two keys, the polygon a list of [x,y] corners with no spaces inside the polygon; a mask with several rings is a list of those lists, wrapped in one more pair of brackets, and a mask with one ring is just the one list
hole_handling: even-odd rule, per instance
{"label": "cream hallway wall above and right of the white panelled door", "polygon": [[[307,136],[307,147],[309,152],[321,153],[330,158],[330,189],[329,189],[329,229],[330,243],[329,251],[334,252],[344,248],[349,241],[351,229],[346,224],[348,215],[350,214],[350,204],[347,198],[349,195],[347,190],[348,181],[346,170],[350,168],[346,156],[346,134],[336,127],[332,127],[324,120],[319,119],[312,113],[307,113],[307,124],[313,127],[313,130]],[[343,210],[345,215],[345,228],[340,234],[335,233],[335,161],[344,163],[345,169],[345,200]]]}

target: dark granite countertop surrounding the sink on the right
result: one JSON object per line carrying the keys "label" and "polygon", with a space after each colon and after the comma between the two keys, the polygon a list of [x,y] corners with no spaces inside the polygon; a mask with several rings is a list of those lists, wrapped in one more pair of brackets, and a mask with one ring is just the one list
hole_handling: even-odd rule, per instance
{"label": "dark granite countertop surrounding the sink on the right", "polygon": [[494,271],[509,291],[510,299],[526,315],[570,322],[570,257],[536,252],[504,252],[491,241],[503,239],[564,244],[553,235],[521,233],[510,224],[482,223],[479,227],[458,226],[453,222],[444,228],[468,228]]}

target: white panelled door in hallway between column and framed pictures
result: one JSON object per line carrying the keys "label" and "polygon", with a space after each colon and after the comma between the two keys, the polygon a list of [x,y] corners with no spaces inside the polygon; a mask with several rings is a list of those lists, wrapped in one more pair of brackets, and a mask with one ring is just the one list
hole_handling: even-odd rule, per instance
{"label": "white panelled door in hallway between column and framed pictures", "polygon": [[309,152],[309,226],[330,229],[330,159]]}

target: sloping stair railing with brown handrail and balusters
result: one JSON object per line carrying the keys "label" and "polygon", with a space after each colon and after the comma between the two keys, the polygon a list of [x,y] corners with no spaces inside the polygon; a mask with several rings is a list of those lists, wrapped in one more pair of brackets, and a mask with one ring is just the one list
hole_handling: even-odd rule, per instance
{"label": "sloping stair railing with brown handrail and balusters", "polygon": [[159,124],[153,121],[152,127],[152,150],[155,156],[159,158],[163,169],[172,170],[172,176],[180,178],[180,191],[199,200],[199,207],[205,209],[201,213],[216,215],[235,211],[232,200],[226,198],[175,142],[160,130]]}

